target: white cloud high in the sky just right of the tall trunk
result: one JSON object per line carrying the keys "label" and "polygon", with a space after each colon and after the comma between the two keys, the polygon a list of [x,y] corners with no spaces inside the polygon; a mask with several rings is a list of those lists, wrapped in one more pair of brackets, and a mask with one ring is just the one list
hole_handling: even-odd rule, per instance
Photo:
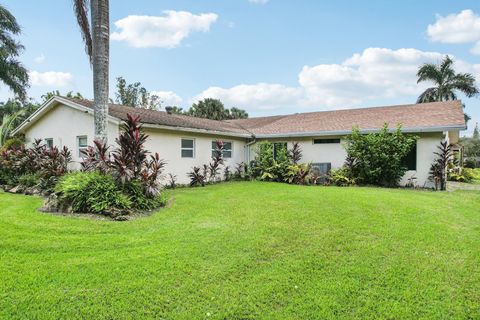
{"label": "white cloud high in the sky just right of the tall trunk", "polygon": [[127,16],[115,22],[118,31],[111,39],[126,41],[136,48],[175,48],[192,32],[207,32],[218,15],[202,13],[199,15],[187,11],[168,10],[165,15]]}

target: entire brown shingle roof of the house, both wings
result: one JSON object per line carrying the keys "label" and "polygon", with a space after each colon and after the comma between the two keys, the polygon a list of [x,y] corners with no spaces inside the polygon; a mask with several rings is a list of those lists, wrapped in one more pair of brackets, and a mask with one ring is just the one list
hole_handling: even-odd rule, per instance
{"label": "entire brown shingle roof of the house, both wings", "polygon": [[[89,100],[70,101],[92,108]],[[375,130],[385,123],[394,128],[401,124],[410,131],[428,131],[441,128],[465,128],[460,101],[432,102],[423,104],[387,107],[360,108],[335,111],[297,113],[291,115],[258,117],[249,119],[216,121],[184,115],[168,114],[164,111],[132,108],[117,104],[109,105],[109,114],[125,120],[127,113],[139,115],[143,123],[162,126],[203,129],[242,136],[281,136],[309,133],[348,133],[353,127],[360,130]]]}

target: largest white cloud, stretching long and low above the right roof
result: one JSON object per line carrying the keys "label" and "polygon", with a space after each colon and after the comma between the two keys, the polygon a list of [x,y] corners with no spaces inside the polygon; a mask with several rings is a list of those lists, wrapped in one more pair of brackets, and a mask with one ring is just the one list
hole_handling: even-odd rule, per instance
{"label": "largest white cloud, stretching long and low above the right roof", "polygon": [[[249,111],[282,109],[315,110],[347,108],[376,99],[412,97],[428,84],[417,84],[418,67],[437,63],[444,57],[438,52],[417,49],[367,48],[340,64],[304,66],[298,75],[298,86],[258,83],[231,88],[210,87],[195,100],[218,98],[226,106]],[[480,76],[480,64],[456,61],[459,71]]]}

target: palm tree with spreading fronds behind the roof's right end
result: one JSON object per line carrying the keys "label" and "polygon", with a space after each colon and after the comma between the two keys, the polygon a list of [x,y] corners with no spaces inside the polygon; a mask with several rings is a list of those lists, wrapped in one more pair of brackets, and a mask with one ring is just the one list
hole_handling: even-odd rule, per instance
{"label": "palm tree with spreading fronds behind the roof's right end", "polygon": [[456,73],[453,60],[446,56],[439,65],[426,63],[417,72],[417,83],[430,81],[434,87],[426,89],[417,99],[417,103],[456,100],[457,91],[471,98],[479,93],[475,77],[470,73]]}

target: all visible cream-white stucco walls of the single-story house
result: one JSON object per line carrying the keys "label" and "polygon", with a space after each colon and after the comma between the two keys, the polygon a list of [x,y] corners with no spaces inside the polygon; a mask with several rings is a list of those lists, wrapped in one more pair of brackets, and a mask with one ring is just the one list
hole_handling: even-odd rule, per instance
{"label": "all visible cream-white stucco walls of the single-story house", "polygon": [[[108,127],[108,139],[114,144],[118,136],[119,127],[117,122],[110,122]],[[226,165],[234,170],[236,164],[248,162],[255,157],[255,144],[247,146],[245,138],[218,136],[204,133],[180,132],[172,130],[160,130],[145,128],[149,135],[146,148],[152,153],[158,152],[160,157],[167,162],[165,175],[172,173],[177,176],[177,183],[186,184],[189,182],[187,173],[193,166],[208,164],[211,160],[212,141],[221,139],[225,142],[232,142],[232,158],[225,159]],[[59,147],[67,146],[72,150],[74,165],[79,167],[77,137],[88,137],[89,145],[93,142],[93,116],[80,110],[64,105],[58,105],[33,123],[26,131],[27,144],[36,138],[53,138],[53,143]],[[447,137],[450,142],[458,140],[458,132],[447,133],[422,133],[417,141],[417,169],[408,171],[403,177],[401,184],[407,183],[412,176],[416,177],[416,184],[420,187],[430,187],[428,181],[430,165],[435,159],[434,152],[440,141]],[[189,138],[195,140],[195,155],[193,158],[181,157],[181,139]],[[302,148],[302,162],[331,163],[332,168],[339,168],[343,165],[346,152],[343,146],[342,137],[315,137],[315,138],[340,138],[341,143],[335,144],[313,144],[313,137],[298,138]],[[260,141],[260,140],[259,140]],[[272,142],[287,142],[291,148],[293,139],[272,139]],[[258,141],[257,141],[258,142]],[[222,169],[223,170],[223,169]],[[223,174],[223,172],[222,172]]]}

